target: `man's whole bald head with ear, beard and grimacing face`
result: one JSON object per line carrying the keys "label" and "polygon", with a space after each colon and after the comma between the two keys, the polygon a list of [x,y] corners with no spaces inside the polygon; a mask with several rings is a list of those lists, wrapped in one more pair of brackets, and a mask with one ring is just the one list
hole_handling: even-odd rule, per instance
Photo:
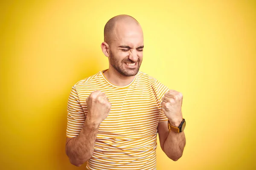
{"label": "man's whole bald head with ear, beard and grimacing face", "polygon": [[108,57],[109,73],[135,76],[140,69],[144,48],[143,31],[138,21],[129,15],[111,18],[105,25],[101,48]]}

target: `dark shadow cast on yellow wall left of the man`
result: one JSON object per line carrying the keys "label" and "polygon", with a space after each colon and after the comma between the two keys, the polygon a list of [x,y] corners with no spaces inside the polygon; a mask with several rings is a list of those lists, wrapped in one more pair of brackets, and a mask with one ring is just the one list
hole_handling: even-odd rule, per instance
{"label": "dark shadow cast on yellow wall left of the man", "polygon": [[[58,118],[55,119],[55,122],[53,122],[54,124],[56,124],[55,126],[56,128],[52,132],[54,133],[55,137],[53,137],[49,141],[49,144],[51,144],[49,149],[52,150],[49,153],[55,154],[56,156],[56,161],[51,163],[52,165],[55,166],[54,168],[52,167],[52,169],[86,170],[86,163],[83,164],[81,167],[76,167],[75,165],[72,165],[70,163],[65,153],[66,129],[67,129],[67,100],[68,100],[68,96],[70,94],[71,88],[76,82],[103,70],[102,68],[99,67],[99,61],[95,59],[96,57],[94,57],[96,55],[98,54],[93,54],[92,51],[90,52],[86,51],[86,53],[80,54],[81,62],[77,63],[78,65],[76,66],[76,67],[79,67],[77,69],[79,71],[74,72],[74,75],[72,75],[73,77],[70,78],[72,80],[67,79],[67,84],[70,84],[70,87],[65,89],[65,91],[63,91],[62,94],[60,94],[60,96],[57,96],[55,101],[52,101],[52,103],[58,104],[58,107],[53,108],[54,112],[58,114]],[[105,56],[103,55],[102,57],[105,57]],[[50,157],[52,158],[53,156],[50,156]]]}

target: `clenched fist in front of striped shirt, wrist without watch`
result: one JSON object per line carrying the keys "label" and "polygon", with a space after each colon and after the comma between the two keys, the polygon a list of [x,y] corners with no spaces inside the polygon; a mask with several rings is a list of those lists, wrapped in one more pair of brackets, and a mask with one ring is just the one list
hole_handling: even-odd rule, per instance
{"label": "clenched fist in front of striped shirt, wrist without watch", "polygon": [[93,91],[86,99],[88,114],[91,122],[100,124],[108,116],[111,110],[111,103],[108,97],[101,91]]}

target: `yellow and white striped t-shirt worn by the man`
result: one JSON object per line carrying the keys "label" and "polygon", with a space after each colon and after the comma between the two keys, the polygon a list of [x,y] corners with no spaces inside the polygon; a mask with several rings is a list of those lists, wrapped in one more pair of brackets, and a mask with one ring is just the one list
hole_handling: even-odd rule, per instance
{"label": "yellow and white striped t-shirt worn by the man", "polygon": [[155,170],[157,125],[167,121],[160,103],[169,90],[141,71],[126,86],[116,86],[104,72],[73,85],[67,102],[67,137],[79,135],[87,116],[87,97],[96,90],[111,102],[108,117],[100,124],[89,170]]}

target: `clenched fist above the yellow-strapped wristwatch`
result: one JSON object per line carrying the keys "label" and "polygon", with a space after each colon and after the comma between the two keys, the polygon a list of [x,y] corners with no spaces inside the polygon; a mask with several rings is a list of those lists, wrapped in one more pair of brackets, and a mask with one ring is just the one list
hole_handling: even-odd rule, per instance
{"label": "clenched fist above the yellow-strapped wristwatch", "polygon": [[178,127],[183,119],[181,113],[183,95],[178,91],[169,90],[164,94],[162,100],[163,113],[169,119],[172,126]]}

